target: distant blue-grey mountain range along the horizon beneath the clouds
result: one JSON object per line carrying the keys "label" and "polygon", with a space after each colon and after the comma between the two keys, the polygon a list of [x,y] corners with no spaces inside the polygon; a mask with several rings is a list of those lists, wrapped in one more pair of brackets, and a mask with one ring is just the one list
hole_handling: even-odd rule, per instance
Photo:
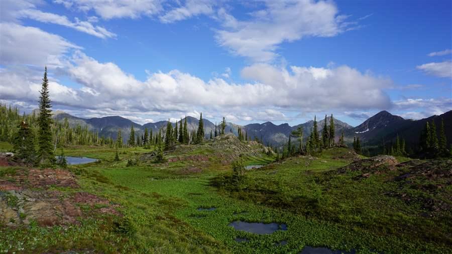
{"label": "distant blue-grey mountain range along the horizon beneath the clouds", "polygon": [[[159,129],[166,128],[167,124],[167,121],[159,121],[140,125],[121,116],[85,119],[75,117],[61,111],[55,112],[54,118],[59,121],[67,118],[69,124],[72,126],[87,125],[90,130],[97,131],[100,136],[111,136],[114,139],[116,139],[118,130],[121,130],[124,141],[128,139],[132,125],[134,126],[135,133],[141,135],[143,134],[145,128],[148,128],[148,130],[152,130],[153,133],[156,133]],[[400,138],[405,139],[407,146],[414,146],[417,145],[419,141],[419,135],[424,128],[426,121],[433,120],[437,126],[436,129],[439,132],[441,119],[444,121],[446,137],[448,143],[450,144],[452,143],[452,110],[439,116],[434,115],[420,120],[404,119],[400,116],[392,115],[387,111],[381,111],[356,127],[334,118],[335,137],[337,140],[344,132],[346,143],[351,143],[354,137],[359,137],[364,146],[375,148],[381,145],[383,141],[385,143],[393,142],[398,135]],[[215,124],[207,119],[203,120],[204,132],[206,138],[208,138],[210,131],[212,131],[212,133],[214,132]],[[330,118],[327,117],[326,121],[329,124]],[[242,130],[252,139],[257,137],[262,140],[264,144],[281,146],[287,142],[290,133],[298,127],[303,129],[304,137],[308,136],[311,132],[313,124],[313,120],[295,126],[290,126],[287,123],[275,125],[272,122],[265,122],[262,124],[252,123],[241,126],[228,122],[225,131],[232,131],[237,135],[238,128],[242,128]],[[319,120],[317,125],[318,131],[321,132],[324,126],[324,119]],[[187,126],[189,131],[197,129],[198,119],[187,116]]]}

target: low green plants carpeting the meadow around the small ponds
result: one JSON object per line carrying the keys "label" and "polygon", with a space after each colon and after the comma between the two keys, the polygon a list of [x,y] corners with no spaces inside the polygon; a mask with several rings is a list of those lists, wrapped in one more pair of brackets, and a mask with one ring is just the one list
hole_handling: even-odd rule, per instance
{"label": "low green plants carpeting the meadow around the small ponds", "polygon": [[[206,146],[180,149],[168,157],[212,154]],[[390,181],[399,171],[382,170],[368,178],[359,178],[360,172],[336,173],[351,162],[344,156],[348,151],[327,150],[318,158],[296,157],[247,170],[240,185],[233,186],[231,167],[221,158],[153,163],[140,161],[149,150],[127,148],[120,149],[121,161],[114,162],[116,149],[71,147],[66,155],[101,159],[69,168],[77,174],[80,190],[119,203],[124,217],[80,218],[80,226],[72,227],[0,225],[0,252],[297,253],[310,245],[362,253],[446,253],[450,211],[425,218],[418,203],[384,195],[399,187]],[[127,167],[129,158],[139,165]],[[272,160],[264,154],[244,159],[246,165]],[[187,167],[202,171],[183,171]],[[0,168],[0,176],[7,170]],[[450,184],[442,191],[450,193]],[[236,231],[228,226],[234,220],[285,223],[287,231]],[[236,242],[236,237],[249,241]],[[287,244],[277,245],[281,240]]]}

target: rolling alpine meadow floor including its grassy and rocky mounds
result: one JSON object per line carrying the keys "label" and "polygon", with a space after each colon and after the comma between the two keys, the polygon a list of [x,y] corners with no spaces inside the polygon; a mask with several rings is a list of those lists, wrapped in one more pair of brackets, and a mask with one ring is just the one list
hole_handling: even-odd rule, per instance
{"label": "rolling alpine meadow floor including its grassy and rocky mounds", "polygon": [[[155,163],[150,159],[152,152],[143,148],[119,149],[120,161],[115,161],[116,149],[68,147],[69,156],[99,159],[68,166],[65,171],[74,181],[69,185],[61,185],[59,179],[33,185],[33,180],[20,176],[39,180],[39,175],[31,174],[36,169],[0,167],[3,209],[16,211],[14,207],[21,202],[35,203],[41,198],[21,200],[27,193],[53,193],[77,201],[72,201],[77,212],[71,220],[58,219],[58,214],[68,217],[67,212],[54,211],[49,212],[54,219],[49,215],[50,221],[43,221],[30,209],[24,210],[24,218],[14,218],[15,222],[3,217],[0,249],[447,252],[452,216],[450,160],[390,156],[369,160],[347,148],[331,148],[318,157],[295,156],[274,162],[262,148],[255,141],[239,141],[226,134],[202,145],[176,146],[166,152],[168,162]],[[234,150],[239,152],[230,153]],[[230,162],[239,156],[245,165],[265,166],[246,170],[235,183]],[[129,159],[138,164],[127,166]],[[18,202],[5,200],[7,193],[19,196]],[[94,196],[77,199],[80,195]],[[264,234],[235,230],[230,225],[234,221],[281,223],[285,230]]]}

